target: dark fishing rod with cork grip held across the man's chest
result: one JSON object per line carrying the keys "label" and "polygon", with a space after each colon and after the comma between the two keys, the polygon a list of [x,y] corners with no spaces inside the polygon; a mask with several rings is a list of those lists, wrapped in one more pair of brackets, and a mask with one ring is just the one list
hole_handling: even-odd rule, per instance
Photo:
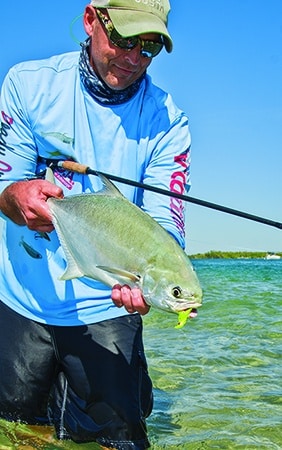
{"label": "dark fishing rod with cork grip held across the man's chest", "polygon": [[158,194],[166,195],[168,197],[178,198],[185,202],[194,203],[195,205],[204,206],[206,208],[214,209],[217,211],[221,211],[227,214],[232,214],[233,216],[243,217],[244,219],[252,220],[254,222],[263,223],[265,225],[269,225],[271,227],[282,229],[282,223],[276,222],[274,220],[266,219],[264,217],[256,216],[254,214],[249,214],[244,211],[239,211],[237,209],[228,208],[227,206],[218,205],[216,203],[211,203],[206,200],[201,200],[199,198],[191,197],[190,195],[178,194],[177,192],[170,192],[166,189],[161,189],[155,186],[150,186],[149,184],[140,183],[138,181],[129,180],[127,178],[118,177],[116,175],[111,175],[104,172],[99,172],[98,170],[91,169],[90,167],[77,163],[75,161],[56,161],[52,162],[50,165],[51,168],[63,168],[65,170],[69,170],[71,172],[79,173],[82,175],[103,175],[112,181],[117,181],[119,183],[127,184],[130,186],[138,187],[141,189],[146,189],[147,191],[157,192]]}

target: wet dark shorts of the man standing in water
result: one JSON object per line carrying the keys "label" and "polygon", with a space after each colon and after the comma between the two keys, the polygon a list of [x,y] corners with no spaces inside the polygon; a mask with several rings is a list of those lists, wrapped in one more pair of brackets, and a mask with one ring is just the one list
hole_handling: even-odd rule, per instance
{"label": "wet dark shorts of the man standing in water", "polygon": [[59,439],[142,450],[152,404],[138,314],[58,327],[0,302],[1,418],[52,424]]}

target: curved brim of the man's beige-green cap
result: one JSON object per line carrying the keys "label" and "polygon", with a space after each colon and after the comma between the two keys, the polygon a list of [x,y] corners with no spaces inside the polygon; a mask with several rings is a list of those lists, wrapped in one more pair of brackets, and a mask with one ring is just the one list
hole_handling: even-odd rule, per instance
{"label": "curved brim of the man's beige-green cap", "polygon": [[173,43],[169,32],[161,19],[153,14],[129,9],[107,8],[114,27],[121,36],[136,36],[146,33],[158,33],[164,37],[166,51],[172,51]]}

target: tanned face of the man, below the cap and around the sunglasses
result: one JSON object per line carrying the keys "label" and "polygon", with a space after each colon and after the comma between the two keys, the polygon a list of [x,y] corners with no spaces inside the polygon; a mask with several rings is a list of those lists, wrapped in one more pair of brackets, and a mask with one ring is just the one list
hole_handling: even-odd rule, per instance
{"label": "tanned face of the man, below the cap and around the sunglasses", "polygon": [[[92,6],[86,6],[84,27],[91,37],[89,50],[90,64],[97,75],[112,89],[125,89],[145,72],[152,58],[140,54],[140,45],[130,51],[120,49],[108,39],[107,33],[99,21]],[[157,41],[156,33],[142,34],[142,39]]]}

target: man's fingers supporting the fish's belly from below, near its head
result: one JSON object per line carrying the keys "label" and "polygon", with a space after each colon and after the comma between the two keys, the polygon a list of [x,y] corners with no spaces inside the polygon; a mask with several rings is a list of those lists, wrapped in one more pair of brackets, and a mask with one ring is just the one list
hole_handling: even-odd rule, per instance
{"label": "man's fingers supporting the fish's belly from below, near its head", "polygon": [[129,313],[139,312],[139,314],[145,315],[150,310],[142,291],[137,287],[130,288],[127,285],[116,284],[112,289],[112,300],[118,308],[124,306]]}

